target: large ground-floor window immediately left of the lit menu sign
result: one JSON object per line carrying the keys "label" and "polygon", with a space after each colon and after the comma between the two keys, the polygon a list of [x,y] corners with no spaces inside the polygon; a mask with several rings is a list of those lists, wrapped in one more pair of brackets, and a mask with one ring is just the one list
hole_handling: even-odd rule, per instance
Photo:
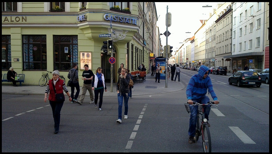
{"label": "large ground-floor window immediately left of the lit menu sign", "polygon": [[70,70],[78,64],[78,36],[54,35],[54,70]]}

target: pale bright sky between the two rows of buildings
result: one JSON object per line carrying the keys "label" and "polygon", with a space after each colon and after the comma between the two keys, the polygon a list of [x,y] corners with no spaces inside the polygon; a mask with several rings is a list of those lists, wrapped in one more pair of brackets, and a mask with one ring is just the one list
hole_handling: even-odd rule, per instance
{"label": "pale bright sky between the two rows of buildings", "polygon": [[[172,46],[172,54],[177,51],[182,42],[186,38],[191,38],[194,33],[201,27],[200,20],[207,20],[209,13],[213,13],[213,9],[217,4],[224,4],[225,2],[155,2],[157,10],[157,26],[159,32],[166,32],[165,16],[168,12],[172,14],[171,26],[168,27],[168,31],[171,33],[168,36],[168,44]],[[202,6],[212,7],[202,7]],[[191,33],[186,33],[191,32]],[[161,35],[162,46],[166,45],[166,36]],[[181,42],[181,43],[180,43]]]}

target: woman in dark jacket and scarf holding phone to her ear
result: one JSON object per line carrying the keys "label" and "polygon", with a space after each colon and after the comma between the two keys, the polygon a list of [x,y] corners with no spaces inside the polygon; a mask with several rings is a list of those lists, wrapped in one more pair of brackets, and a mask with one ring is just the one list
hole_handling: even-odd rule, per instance
{"label": "woman in dark jacket and scarf holding phone to her ear", "polygon": [[117,84],[116,84],[116,91],[117,91],[117,97],[118,97],[118,120],[116,120],[117,123],[122,123],[122,107],[123,107],[123,100],[124,100],[124,106],[125,106],[125,112],[124,112],[124,119],[128,119],[128,98],[130,96],[129,93],[129,76],[126,73],[126,68],[122,68],[121,75],[118,78]]}

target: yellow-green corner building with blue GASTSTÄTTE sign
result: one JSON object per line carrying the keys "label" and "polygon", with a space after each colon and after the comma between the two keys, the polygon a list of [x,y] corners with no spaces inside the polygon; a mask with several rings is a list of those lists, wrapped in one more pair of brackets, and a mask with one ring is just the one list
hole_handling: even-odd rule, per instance
{"label": "yellow-green corner building with blue GASTST\u00c4TTE sign", "polygon": [[[112,39],[117,82],[121,63],[131,71],[149,66],[149,53],[156,49],[150,38],[156,37],[145,33],[156,24],[154,10],[154,2],[2,2],[2,74],[14,67],[26,75],[24,84],[38,85],[42,72],[59,70],[67,84],[77,63],[79,78],[88,64],[94,73],[102,67],[110,82],[111,54],[103,41]],[[142,17],[146,13],[152,20]]]}

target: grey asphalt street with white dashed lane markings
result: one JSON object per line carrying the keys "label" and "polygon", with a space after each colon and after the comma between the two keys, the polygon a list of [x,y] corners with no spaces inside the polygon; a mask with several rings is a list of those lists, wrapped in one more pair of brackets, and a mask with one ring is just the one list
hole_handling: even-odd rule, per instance
{"label": "grey asphalt street with white dashed lane markings", "polygon": [[[58,134],[44,96],[2,95],[2,152],[203,152],[201,140],[188,144],[184,107],[196,73],[181,69],[182,90],[133,96],[121,124],[116,96],[103,98],[102,111],[66,100]],[[269,152],[269,84],[237,87],[228,76],[209,76],[220,101],[209,115],[212,152]]]}

